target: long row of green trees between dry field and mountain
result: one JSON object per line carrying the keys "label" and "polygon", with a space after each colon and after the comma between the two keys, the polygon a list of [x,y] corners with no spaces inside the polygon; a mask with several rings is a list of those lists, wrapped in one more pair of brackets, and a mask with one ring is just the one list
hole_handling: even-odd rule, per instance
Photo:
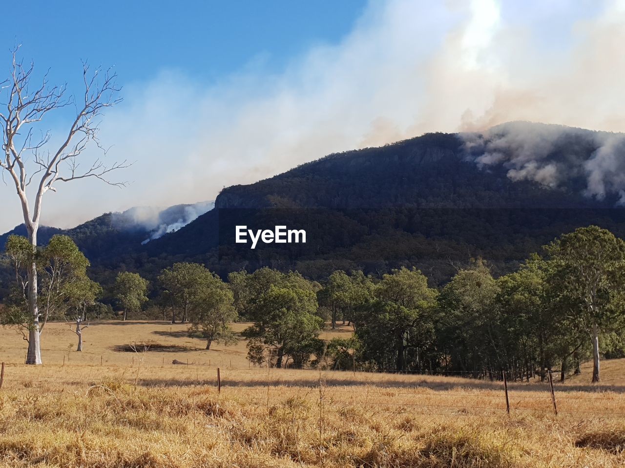
{"label": "long row of green trees between dry field and mountain", "polygon": [[[2,321],[21,329],[29,323],[29,249],[19,236],[6,246],[16,284]],[[625,356],[625,243],[596,226],[559,236],[499,278],[481,258],[452,264],[455,275],[439,288],[414,267],[382,275],[336,270],[322,281],[264,267],[230,273],[226,282],[205,265],[181,262],[151,282],[120,272],[102,292],[68,236],[54,236],[34,255],[43,321],[71,318],[80,328],[89,318],[110,318],[111,306],[99,302],[106,296],[124,319],[189,323],[207,349],[234,340],[232,321],[251,321],[243,334],[248,358],[259,365],[491,378],[504,371],[512,379],[559,369],[564,379],[592,357],[598,381],[601,356]],[[319,338],[326,321],[353,326],[354,336],[327,343]]]}

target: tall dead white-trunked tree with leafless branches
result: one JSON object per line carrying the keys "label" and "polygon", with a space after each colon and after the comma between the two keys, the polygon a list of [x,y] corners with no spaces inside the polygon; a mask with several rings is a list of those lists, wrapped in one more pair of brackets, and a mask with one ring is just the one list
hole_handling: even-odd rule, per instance
{"label": "tall dead white-trunked tree with leafless branches", "polygon": [[[125,162],[105,165],[101,158],[85,165],[81,171],[79,160],[83,159],[84,150],[91,143],[102,148],[98,140],[98,117],[103,110],[119,102],[114,84],[116,75],[110,69],[101,74],[96,69],[89,73],[89,66],[83,64],[84,94],[80,99],[66,98],[66,88],[49,86],[47,76],[41,84],[32,85],[34,66],[24,66],[17,59],[17,50],[12,53],[11,76],[0,81],[0,90],[6,91],[4,102],[0,106],[6,110],[0,112],[2,123],[2,158],[0,170],[8,173],[14,183],[19,198],[24,225],[30,244],[27,265],[26,302],[31,323],[28,326],[27,364],[41,364],[41,313],[37,298],[37,230],[41,219],[42,200],[46,192],[56,191],[62,182],[71,182],[81,178],[94,177],[111,185],[106,179],[108,173],[127,167]],[[46,115],[56,109],[75,105],[76,116],[58,146],[53,147],[51,134],[47,132],[37,138],[39,126]],[[105,152],[106,154],[106,152]],[[34,183],[34,190],[31,190]],[[34,200],[30,205],[29,200]]]}

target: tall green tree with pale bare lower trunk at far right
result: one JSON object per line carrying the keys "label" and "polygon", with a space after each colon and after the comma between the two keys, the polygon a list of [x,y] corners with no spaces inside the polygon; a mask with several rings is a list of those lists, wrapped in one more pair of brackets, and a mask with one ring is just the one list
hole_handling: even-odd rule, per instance
{"label": "tall green tree with pale bare lower trunk at far right", "polygon": [[625,242],[597,226],[577,228],[546,246],[554,281],[591,338],[592,382],[599,382],[599,334],[621,327],[625,288]]}

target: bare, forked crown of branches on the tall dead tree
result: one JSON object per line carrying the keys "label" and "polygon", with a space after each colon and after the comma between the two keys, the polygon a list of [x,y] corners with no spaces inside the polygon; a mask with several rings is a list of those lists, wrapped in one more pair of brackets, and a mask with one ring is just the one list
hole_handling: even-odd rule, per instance
{"label": "bare, forked crown of branches on the tall dead tree", "polygon": [[[118,104],[121,99],[117,94],[121,88],[115,84],[116,74],[113,69],[103,70],[97,68],[90,72],[87,62],[83,62],[84,94],[80,104],[73,97],[66,98],[66,85],[49,86],[44,74],[41,82],[31,89],[34,65],[24,65],[17,59],[19,46],[12,51],[12,70],[8,79],[0,82],[0,90],[7,93],[7,100],[0,107],[6,111],[0,112],[2,123],[2,156],[0,157],[0,169],[2,175],[9,173],[16,185],[17,195],[22,204],[24,223],[31,230],[36,231],[41,216],[41,200],[47,190],[55,190],[54,183],[69,182],[79,178],[95,177],[103,182],[116,187],[124,187],[126,182],[111,182],[107,175],[130,164],[114,162],[105,165],[101,158],[93,162],[89,170],[81,172],[76,158],[81,156],[93,142],[94,146],[103,151],[106,150],[98,140],[99,123],[98,117],[104,109]],[[49,142],[49,132],[42,135],[41,139],[33,139],[32,125],[41,122],[45,115],[54,109],[60,109],[67,105],[76,107],[76,117],[69,125],[68,132],[59,147],[53,152],[47,151],[47,157],[41,155]],[[27,129],[24,132],[24,129]],[[19,141],[18,141],[19,140]],[[31,164],[34,169],[27,167],[26,155],[31,154]],[[68,162],[68,165],[64,164]],[[67,173],[64,173],[67,172]],[[34,197],[34,207],[28,205],[26,187],[39,177],[38,187]]]}

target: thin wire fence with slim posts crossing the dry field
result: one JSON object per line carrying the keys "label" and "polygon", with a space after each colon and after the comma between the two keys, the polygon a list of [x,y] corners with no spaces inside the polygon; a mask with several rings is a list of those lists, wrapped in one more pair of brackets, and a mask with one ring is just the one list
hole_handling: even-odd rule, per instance
{"label": "thin wire fence with slim posts crossing the dry field", "polygon": [[[102,360],[101,360],[102,361]],[[174,361],[175,362],[175,361]],[[53,369],[51,371],[51,368]],[[579,418],[622,418],[625,394],[589,392],[581,387],[555,388],[551,373],[546,384],[510,384],[451,376],[381,374],[354,371],[314,371],[276,368],[211,368],[196,364],[163,364],[160,368],[133,366],[46,365],[2,363],[0,390],[41,389],[63,392],[107,380],[134,387],[204,388],[217,396],[244,397],[258,405],[283,404],[297,398],[327,408],[361,406],[377,411],[453,417],[509,417],[552,414]]]}

